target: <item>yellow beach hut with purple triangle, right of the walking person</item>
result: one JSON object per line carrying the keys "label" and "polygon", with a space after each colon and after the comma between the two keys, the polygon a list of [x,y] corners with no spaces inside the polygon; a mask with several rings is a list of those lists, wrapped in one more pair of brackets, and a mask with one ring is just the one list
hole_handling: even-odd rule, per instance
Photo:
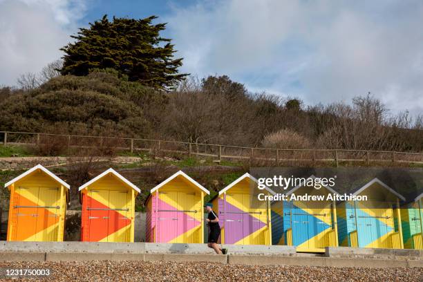
{"label": "yellow beach hut with purple triangle, right of the walking person", "polygon": [[245,173],[219,191],[212,201],[218,214],[224,244],[272,245],[270,201],[259,200],[257,194],[273,195],[265,187],[257,188],[257,180]]}

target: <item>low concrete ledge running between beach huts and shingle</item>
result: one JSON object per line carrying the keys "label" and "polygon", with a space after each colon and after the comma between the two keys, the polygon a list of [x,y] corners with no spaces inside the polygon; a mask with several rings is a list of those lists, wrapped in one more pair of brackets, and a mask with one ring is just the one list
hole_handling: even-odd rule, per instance
{"label": "low concrete ledge running between beach huts and shingle", "polygon": [[290,246],[226,247],[228,255],[216,255],[205,244],[2,242],[0,261],[208,261],[229,265],[423,267],[422,250],[332,247],[326,254],[301,254]]}

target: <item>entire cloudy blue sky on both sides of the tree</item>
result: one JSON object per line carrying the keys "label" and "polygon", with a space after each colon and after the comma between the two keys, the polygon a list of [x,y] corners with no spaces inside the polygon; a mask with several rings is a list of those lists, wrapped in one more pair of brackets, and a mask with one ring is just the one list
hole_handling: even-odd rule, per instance
{"label": "entire cloudy blue sky on both sides of the tree", "polygon": [[310,105],[370,92],[392,113],[423,114],[421,0],[0,0],[0,85],[61,57],[105,14],[158,16],[184,73]]}

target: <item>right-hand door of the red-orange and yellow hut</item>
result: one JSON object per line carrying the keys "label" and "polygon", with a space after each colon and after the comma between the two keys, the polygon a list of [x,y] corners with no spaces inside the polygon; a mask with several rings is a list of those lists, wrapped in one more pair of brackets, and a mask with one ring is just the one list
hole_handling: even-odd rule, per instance
{"label": "right-hand door of the red-orange and yellow hut", "polygon": [[131,219],[129,215],[129,191],[109,191],[109,242],[128,242]]}

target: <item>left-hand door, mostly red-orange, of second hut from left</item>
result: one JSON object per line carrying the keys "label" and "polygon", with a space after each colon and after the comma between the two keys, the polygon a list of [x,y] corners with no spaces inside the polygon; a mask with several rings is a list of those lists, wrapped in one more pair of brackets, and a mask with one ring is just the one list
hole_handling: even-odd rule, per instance
{"label": "left-hand door, mostly red-orange, of second hut from left", "polygon": [[109,191],[90,190],[88,197],[88,241],[107,242],[109,232]]}

